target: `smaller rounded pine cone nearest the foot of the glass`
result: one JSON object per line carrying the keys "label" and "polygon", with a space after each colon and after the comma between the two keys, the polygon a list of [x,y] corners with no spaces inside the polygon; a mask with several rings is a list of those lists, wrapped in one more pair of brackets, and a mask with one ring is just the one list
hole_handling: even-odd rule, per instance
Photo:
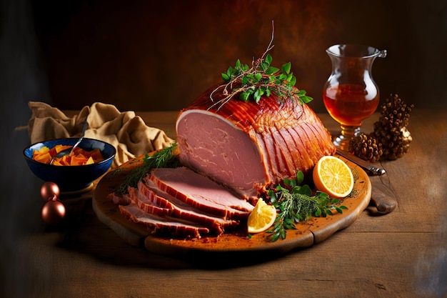
{"label": "smaller rounded pine cone nearest the foot of the glass", "polygon": [[378,143],[374,136],[363,133],[349,141],[349,150],[368,162],[377,162],[383,154],[382,144]]}

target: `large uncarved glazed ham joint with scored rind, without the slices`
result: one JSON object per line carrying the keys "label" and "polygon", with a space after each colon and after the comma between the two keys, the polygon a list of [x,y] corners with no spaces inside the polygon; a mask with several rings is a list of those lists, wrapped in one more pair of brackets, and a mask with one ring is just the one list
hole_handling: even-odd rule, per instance
{"label": "large uncarved glazed ham joint with scored rind, without the slices", "polygon": [[336,152],[321,120],[298,99],[276,94],[220,104],[222,90],[209,89],[176,121],[180,161],[233,189],[256,198],[283,179],[309,174],[318,159]]}

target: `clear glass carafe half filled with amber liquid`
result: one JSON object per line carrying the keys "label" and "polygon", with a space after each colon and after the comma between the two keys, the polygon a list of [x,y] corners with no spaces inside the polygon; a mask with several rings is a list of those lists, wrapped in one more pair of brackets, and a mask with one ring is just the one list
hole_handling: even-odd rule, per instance
{"label": "clear glass carafe half filled with amber liquid", "polygon": [[358,44],[336,44],[326,49],[332,72],[323,87],[323,103],[328,113],[341,126],[333,139],[338,148],[348,150],[349,141],[360,134],[362,121],[376,111],[380,93],[371,68],[386,50]]}

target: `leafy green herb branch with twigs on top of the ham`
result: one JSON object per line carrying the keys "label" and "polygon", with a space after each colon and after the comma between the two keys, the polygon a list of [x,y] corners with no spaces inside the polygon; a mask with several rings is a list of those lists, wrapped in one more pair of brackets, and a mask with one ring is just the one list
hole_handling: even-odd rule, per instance
{"label": "leafy green herb branch with twigs on top of the ham", "polygon": [[266,51],[261,58],[256,61],[253,59],[251,67],[242,64],[238,59],[234,67],[228,67],[227,71],[221,74],[226,84],[214,89],[210,98],[214,101],[214,94],[221,89],[223,89],[224,98],[217,101],[213,106],[217,104],[222,106],[236,95],[245,102],[253,100],[257,103],[261,100],[261,96],[264,94],[270,96],[271,92],[278,95],[281,100],[296,96],[300,104],[307,104],[312,100],[310,96],[306,96],[306,91],[296,89],[296,76],[291,72],[290,62],[283,64],[281,69],[271,66],[273,58],[268,54],[268,51],[273,49],[272,43],[273,32]]}

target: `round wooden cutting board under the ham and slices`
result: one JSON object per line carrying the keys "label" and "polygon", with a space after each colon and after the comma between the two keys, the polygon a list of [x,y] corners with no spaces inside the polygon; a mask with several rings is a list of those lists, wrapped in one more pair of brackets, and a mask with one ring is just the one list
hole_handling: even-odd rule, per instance
{"label": "round wooden cutting board under the ham and slices", "polygon": [[[271,242],[268,233],[253,234],[246,232],[222,234],[219,237],[203,237],[202,239],[174,239],[151,235],[143,224],[129,221],[119,212],[107,195],[113,192],[123,181],[127,173],[134,167],[140,167],[143,157],[132,159],[121,167],[107,173],[96,186],[93,208],[96,216],[116,232],[122,239],[134,246],[141,246],[156,254],[189,254],[189,253],[222,253],[222,252],[263,252],[275,251],[281,254],[300,247],[311,247],[323,242],[335,232],[348,227],[368,207],[371,199],[371,182],[366,172],[356,164],[342,159],[352,169],[355,184],[353,194],[344,199],[343,205],[348,207],[343,214],[328,217],[313,217],[307,222],[300,222],[296,230],[288,230],[286,239]],[[244,229],[245,230],[245,229]]]}

